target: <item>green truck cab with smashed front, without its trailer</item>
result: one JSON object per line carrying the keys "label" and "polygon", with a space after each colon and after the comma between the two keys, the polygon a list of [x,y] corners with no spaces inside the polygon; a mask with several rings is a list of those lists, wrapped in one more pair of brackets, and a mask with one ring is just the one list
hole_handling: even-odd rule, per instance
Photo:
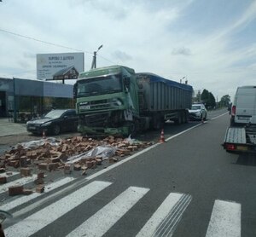
{"label": "green truck cab with smashed front, without its trailer", "polygon": [[127,136],[137,130],[137,91],[136,74],[127,66],[80,72],[74,85],[79,132]]}

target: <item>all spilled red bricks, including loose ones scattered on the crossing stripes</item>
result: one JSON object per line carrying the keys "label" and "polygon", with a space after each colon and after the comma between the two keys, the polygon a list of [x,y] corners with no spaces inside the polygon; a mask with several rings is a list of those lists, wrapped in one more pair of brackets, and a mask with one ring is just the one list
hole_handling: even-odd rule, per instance
{"label": "all spilled red bricks, including loose ones scattered on the crossing stripes", "polygon": [[[71,171],[82,171],[82,175],[86,174],[88,169],[96,168],[97,165],[102,165],[103,157],[82,156],[81,159],[74,162],[72,165],[67,163],[67,158],[86,153],[93,148],[99,146],[115,147],[113,156],[108,157],[108,163],[117,162],[120,157],[130,155],[138,149],[143,149],[151,145],[151,142],[137,142],[136,145],[131,145],[128,140],[122,138],[114,138],[108,136],[103,140],[94,140],[83,136],[74,136],[66,140],[61,140],[58,145],[51,145],[45,139],[44,145],[36,148],[26,148],[22,145],[11,149],[0,157],[0,184],[6,183],[6,176],[1,176],[1,173],[8,170],[8,166],[20,169],[20,176],[32,176],[33,168],[36,168],[38,173],[34,183],[37,185],[35,192],[44,193],[44,172],[63,170],[64,174],[70,174]],[[11,174],[10,171],[6,172]],[[32,189],[25,189],[22,185],[9,187],[9,195],[32,194]]]}

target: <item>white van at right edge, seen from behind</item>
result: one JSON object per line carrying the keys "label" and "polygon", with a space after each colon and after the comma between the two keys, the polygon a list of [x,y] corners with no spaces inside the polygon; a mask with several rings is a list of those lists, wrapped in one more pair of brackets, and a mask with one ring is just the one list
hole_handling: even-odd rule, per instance
{"label": "white van at right edge, seen from behind", "polygon": [[230,125],[242,124],[256,124],[256,86],[241,86],[236,90]]}

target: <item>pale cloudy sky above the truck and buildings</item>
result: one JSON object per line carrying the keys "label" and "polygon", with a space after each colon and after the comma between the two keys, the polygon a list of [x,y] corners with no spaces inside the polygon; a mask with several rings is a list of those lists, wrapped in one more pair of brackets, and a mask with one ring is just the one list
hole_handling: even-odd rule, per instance
{"label": "pale cloudy sky above the truck and buildings", "polygon": [[2,0],[0,78],[37,78],[37,54],[84,52],[208,90],[256,85],[256,0]]}

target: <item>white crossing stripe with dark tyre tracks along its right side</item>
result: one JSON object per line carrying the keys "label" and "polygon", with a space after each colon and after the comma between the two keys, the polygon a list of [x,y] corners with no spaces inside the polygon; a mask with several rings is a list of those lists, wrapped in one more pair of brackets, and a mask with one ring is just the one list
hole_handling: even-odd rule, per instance
{"label": "white crossing stripe with dark tyre tracks along its right side", "polygon": [[191,199],[189,194],[169,194],[137,237],[172,236]]}

